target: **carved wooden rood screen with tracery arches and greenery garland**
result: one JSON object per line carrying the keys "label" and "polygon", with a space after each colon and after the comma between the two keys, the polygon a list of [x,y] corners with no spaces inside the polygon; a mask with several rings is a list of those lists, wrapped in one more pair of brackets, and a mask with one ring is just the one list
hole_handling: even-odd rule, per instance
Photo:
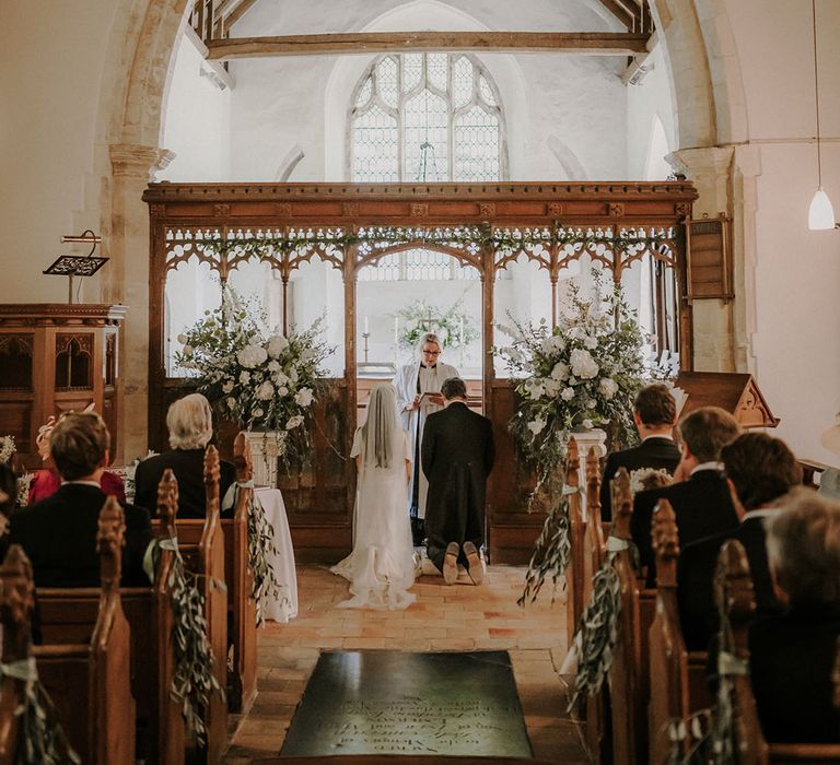
{"label": "carved wooden rood screen with tracery arches and greenery garland", "polygon": [[[625,268],[650,255],[674,269],[682,367],[691,367],[691,307],[686,290],[685,222],[697,198],[687,181],[600,184],[152,184],[143,195],[151,216],[149,431],[165,445],[164,413],[185,392],[166,378],[166,274],[190,259],[221,279],[249,260],[270,263],[283,290],[292,271],[313,258],[341,272],[345,284],[345,377],[318,402],[312,466],[281,479],[299,557],[337,560],[351,545],[354,466],[345,459],[355,424],[355,284],[360,268],[395,251],[424,247],[476,268],[482,291],[483,405],[494,424],[500,469],[491,476],[488,537],[492,560],[527,557],[539,515],[525,513],[533,475],[520,464],[508,421],[515,407],[510,380],[494,379],[495,273],[520,258],[545,270],[557,320],[560,270],[586,254],[618,282]],[[283,301],[285,311],[285,301]],[[284,321],[288,317],[284,313]],[[336,449],[332,448],[336,447]],[[317,480],[316,480],[317,476]]]}

